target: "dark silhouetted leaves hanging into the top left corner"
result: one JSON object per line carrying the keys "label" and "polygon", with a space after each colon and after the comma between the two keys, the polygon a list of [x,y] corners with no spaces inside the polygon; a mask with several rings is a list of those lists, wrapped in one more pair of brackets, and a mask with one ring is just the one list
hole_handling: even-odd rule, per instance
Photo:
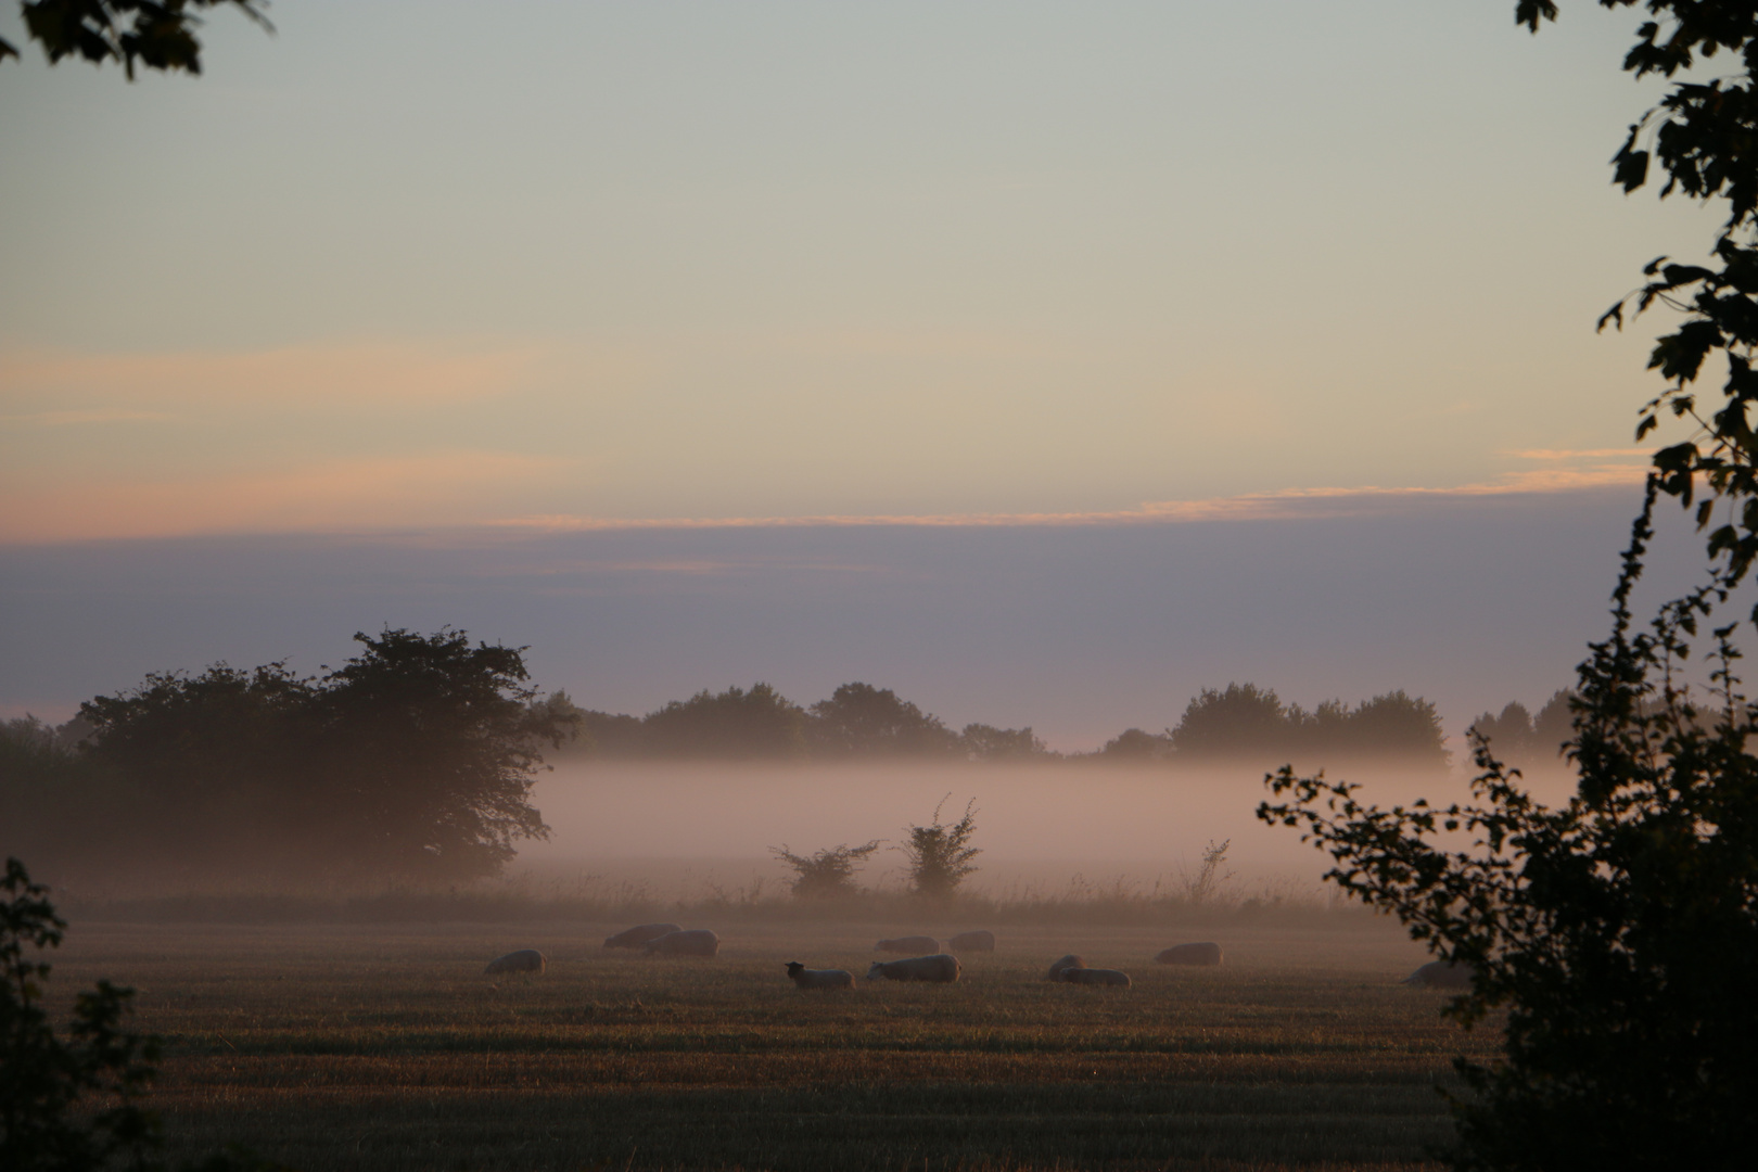
{"label": "dark silhouetted leaves hanging into the top left corner", "polygon": [[[25,35],[42,46],[49,63],[77,56],[102,65],[121,61],[128,81],[134,65],[202,72],[202,46],[195,39],[200,18],[192,9],[236,7],[272,32],[260,0],[21,0]],[[0,61],[18,47],[0,40]]]}

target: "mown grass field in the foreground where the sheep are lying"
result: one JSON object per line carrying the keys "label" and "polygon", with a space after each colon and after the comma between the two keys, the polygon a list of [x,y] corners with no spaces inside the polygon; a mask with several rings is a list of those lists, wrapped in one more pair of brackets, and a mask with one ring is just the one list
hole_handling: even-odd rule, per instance
{"label": "mown grass field in the foreground where the sheep are lying", "polygon": [[[687,924],[698,926],[698,924]],[[329,1168],[1419,1167],[1436,1082],[1487,1031],[1396,984],[1396,926],[1011,928],[956,986],[863,977],[895,924],[707,924],[721,956],[607,952],[621,924],[76,924],[51,988],[134,984],[179,1153]],[[949,935],[949,928],[941,928]],[[1155,951],[1220,940],[1218,970]],[[538,947],[536,979],[487,979]],[[1067,951],[1132,989],[1048,984]]]}

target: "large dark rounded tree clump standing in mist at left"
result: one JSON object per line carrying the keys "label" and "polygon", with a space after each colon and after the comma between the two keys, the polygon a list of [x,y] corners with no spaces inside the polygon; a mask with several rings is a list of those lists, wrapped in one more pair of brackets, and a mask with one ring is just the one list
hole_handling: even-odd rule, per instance
{"label": "large dark rounded tree clump standing in mist at left", "polygon": [[218,664],[88,701],[84,770],[60,805],[86,810],[109,861],[190,877],[469,877],[543,836],[531,784],[573,713],[531,703],[522,648],[462,631],[355,640],[316,678]]}

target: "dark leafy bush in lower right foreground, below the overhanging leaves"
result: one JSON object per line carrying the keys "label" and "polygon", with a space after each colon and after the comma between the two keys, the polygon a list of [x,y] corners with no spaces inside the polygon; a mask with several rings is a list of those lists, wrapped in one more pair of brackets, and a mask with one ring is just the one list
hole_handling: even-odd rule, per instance
{"label": "dark leafy bush in lower right foreground, below the overhanging leaves", "polygon": [[1535,801],[1477,738],[1468,805],[1382,810],[1348,782],[1266,778],[1259,807],[1334,859],[1326,879],[1398,915],[1473,970],[1447,1010],[1505,1010],[1505,1053],[1456,1060],[1459,1168],[1732,1168],[1751,1156],[1758,1100],[1758,705],[1739,694],[1733,626],[1716,627],[1712,710],[1681,682],[1735,569],[1631,631],[1661,487],[1614,592],[1612,636],[1579,669],[1580,771],[1559,808]]}

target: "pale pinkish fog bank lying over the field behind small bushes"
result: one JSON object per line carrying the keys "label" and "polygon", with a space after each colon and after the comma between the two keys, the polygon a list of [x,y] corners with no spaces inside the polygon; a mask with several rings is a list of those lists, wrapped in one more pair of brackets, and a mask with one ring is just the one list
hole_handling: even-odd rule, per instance
{"label": "pale pinkish fog bank lying over the field behind small bushes", "polygon": [[[1369,801],[1391,805],[1470,796],[1468,775],[1345,773]],[[1544,801],[1566,798],[1561,773],[1531,782]],[[1055,896],[1071,884],[1141,887],[1176,884],[1210,842],[1229,840],[1238,894],[1311,893],[1327,859],[1299,833],[1253,815],[1268,796],[1262,770],[1108,768],[1081,764],[969,766],[744,766],[563,763],[533,799],[550,826],[547,842],[520,847],[515,873],[643,884],[693,898],[712,886],[789,872],[770,854],[796,854],[884,838],[909,824],[956,821],[976,803],[981,868],[967,887],[992,896]],[[865,886],[897,889],[904,856],[881,850]]]}

